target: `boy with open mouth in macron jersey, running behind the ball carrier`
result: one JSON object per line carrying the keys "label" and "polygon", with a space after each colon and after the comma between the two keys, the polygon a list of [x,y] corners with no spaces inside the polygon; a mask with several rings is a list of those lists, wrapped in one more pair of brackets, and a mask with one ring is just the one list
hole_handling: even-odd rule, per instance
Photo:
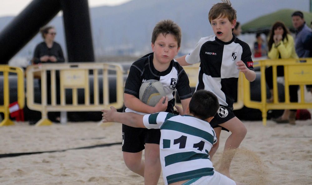
{"label": "boy with open mouth in macron jersey, running behind the ball carrier", "polygon": [[182,66],[200,62],[196,90],[209,90],[218,97],[220,109],[210,122],[218,142],[211,149],[210,156],[219,146],[221,130],[231,131],[219,169],[230,177],[229,168],[235,154],[231,149],[238,148],[247,133],[245,125],[233,113],[238,76],[239,72],[243,72],[247,80],[253,81],[256,73],[249,46],[232,34],[236,25],[236,10],[231,2],[222,0],[222,3],[213,5],[208,17],[215,35],[201,38],[190,54],[176,60]]}

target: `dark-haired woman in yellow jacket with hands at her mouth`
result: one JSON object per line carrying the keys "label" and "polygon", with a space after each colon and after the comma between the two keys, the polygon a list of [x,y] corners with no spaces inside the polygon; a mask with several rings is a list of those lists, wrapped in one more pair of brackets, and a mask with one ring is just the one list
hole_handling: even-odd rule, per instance
{"label": "dark-haired woman in yellow jacket with hands at her mouth", "polygon": [[[298,58],[295,51],[294,38],[282,22],[275,22],[272,27],[268,41],[268,57],[270,59],[288,59]],[[277,66],[277,76],[284,76],[284,66]],[[271,98],[268,102],[273,101],[273,77],[272,66],[266,68],[266,82],[270,88]],[[298,102],[298,85],[289,86],[290,102]],[[277,123],[295,124],[297,110],[285,110],[283,115],[275,120]]]}

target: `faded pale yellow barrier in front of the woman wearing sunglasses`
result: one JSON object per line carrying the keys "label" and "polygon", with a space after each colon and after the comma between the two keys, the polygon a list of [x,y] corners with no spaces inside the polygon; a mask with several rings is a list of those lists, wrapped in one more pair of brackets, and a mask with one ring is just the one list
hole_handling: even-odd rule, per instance
{"label": "faded pale yellow barrier in front of the woman wearing sunglasses", "polygon": [[[34,74],[41,73],[41,104],[34,102]],[[46,93],[46,71],[51,71],[51,105],[47,105]],[[56,71],[60,71],[60,96],[61,104],[56,104]],[[93,74],[93,95],[94,103],[90,104],[90,81],[89,71]],[[99,90],[99,71],[103,74],[103,103],[100,103]],[[113,73],[116,79],[116,102],[110,103],[109,93],[109,75]],[[42,64],[28,66],[27,76],[27,106],[31,110],[41,112],[41,119],[36,126],[51,125],[52,122],[47,119],[49,111],[100,111],[114,106],[120,109],[124,105],[123,92],[123,70],[119,65],[106,63],[65,63],[65,64]],[[72,104],[65,102],[65,90],[72,90]],[[78,104],[77,89],[83,89],[85,100],[83,104]]]}

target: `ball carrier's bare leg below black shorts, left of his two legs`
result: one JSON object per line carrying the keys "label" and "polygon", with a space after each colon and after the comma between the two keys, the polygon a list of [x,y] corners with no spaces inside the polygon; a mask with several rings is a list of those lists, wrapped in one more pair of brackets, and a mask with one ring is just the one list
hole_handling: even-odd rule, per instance
{"label": "ball carrier's bare leg below black shorts, left of his two legs", "polygon": [[[159,149],[158,149],[159,150]],[[133,171],[144,177],[144,160],[142,160],[142,151],[137,153],[123,152],[124,163]]]}

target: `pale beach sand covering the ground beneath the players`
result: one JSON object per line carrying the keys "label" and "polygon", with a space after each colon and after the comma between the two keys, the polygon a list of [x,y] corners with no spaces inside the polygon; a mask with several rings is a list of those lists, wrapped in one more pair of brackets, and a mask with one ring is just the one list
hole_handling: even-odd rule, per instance
{"label": "pale beach sand covering the ground beneath the players", "polygon": [[[246,138],[231,164],[234,180],[250,185],[312,184],[312,120],[263,126],[243,121]],[[212,158],[217,167],[229,133],[222,131]],[[0,154],[119,143],[121,124],[95,122],[35,127],[27,122],[0,128]],[[216,168],[217,169],[217,168]],[[121,145],[0,158],[1,185],[144,184],[124,164]],[[158,184],[163,184],[162,176]]]}

